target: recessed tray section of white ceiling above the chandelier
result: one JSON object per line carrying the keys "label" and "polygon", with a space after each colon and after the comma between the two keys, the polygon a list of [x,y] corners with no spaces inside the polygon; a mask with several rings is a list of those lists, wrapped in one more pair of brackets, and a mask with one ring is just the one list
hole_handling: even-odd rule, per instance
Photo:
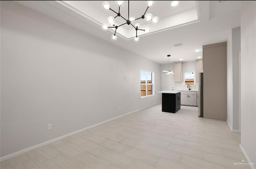
{"label": "recessed tray section of white ceiling above the chandelier", "polygon": [[[64,0],[60,2],[60,4],[72,9],[72,12],[76,12],[76,14],[82,14],[85,18],[90,19],[96,24],[106,23],[109,16],[116,17],[115,25],[124,25],[118,27],[117,30],[115,28],[110,28],[109,30],[113,32],[113,34],[116,30],[117,36],[126,40],[132,40],[134,36],[136,36],[136,31],[132,25],[126,24],[126,20],[128,19],[128,1],[125,1],[124,6],[120,8],[120,17],[118,17],[115,13],[118,12],[118,5],[115,3],[115,1],[108,1],[111,7],[111,10],[108,11],[99,8],[102,6],[103,2],[104,1]],[[150,7],[146,11],[146,1],[130,1],[130,18],[140,18],[145,12],[146,14],[152,13],[154,16],[161,18],[161,22],[159,22],[157,25],[153,25],[151,22],[146,23],[144,19],[138,19],[132,22],[132,24],[139,23],[141,25],[140,29],[143,30],[148,27],[150,28],[152,34],[199,21],[199,11],[196,6],[196,1],[182,1],[176,7],[172,7],[170,2],[172,1],[157,1],[154,7]],[[139,30],[137,33],[139,37],[146,36],[144,31]]]}

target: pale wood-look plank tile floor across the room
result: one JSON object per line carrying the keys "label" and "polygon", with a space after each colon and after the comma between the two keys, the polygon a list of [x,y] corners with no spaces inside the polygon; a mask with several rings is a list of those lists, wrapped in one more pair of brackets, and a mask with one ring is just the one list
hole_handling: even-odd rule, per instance
{"label": "pale wood-look plank tile floor across the room", "polygon": [[[230,169],[245,159],[226,121],[161,104],[1,162],[1,169]],[[242,166],[242,168],[250,168]]]}

